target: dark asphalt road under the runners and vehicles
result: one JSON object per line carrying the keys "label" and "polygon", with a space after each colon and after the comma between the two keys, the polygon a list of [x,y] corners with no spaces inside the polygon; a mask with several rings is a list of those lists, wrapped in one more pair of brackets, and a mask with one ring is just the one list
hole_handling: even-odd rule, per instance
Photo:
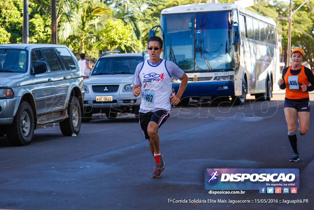
{"label": "dark asphalt road under the runners and vehicles", "polygon": [[[301,160],[289,162],[292,149],[283,99],[280,92],[270,102],[249,97],[244,106],[214,100],[173,107],[159,129],[165,157],[161,179],[151,178],[154,158],[132,115],[83,123],[75,137],[62,136],[59,126],[36,129],[28,146],[12,147],[0,137],[0,208],[312,209],[314,116],[307,135],[297,135]],[[204,188],[206,168],[298,168],[300,188],[296,194],[243,190],[245,194],[212,195]],[[170,202],[173,199],[195,202]],[[257,203],[255,199],[309,202]]]}

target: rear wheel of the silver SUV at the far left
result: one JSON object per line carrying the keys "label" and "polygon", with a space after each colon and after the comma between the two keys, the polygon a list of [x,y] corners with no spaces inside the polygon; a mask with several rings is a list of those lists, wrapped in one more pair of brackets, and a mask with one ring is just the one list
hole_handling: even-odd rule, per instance
{"label": "rear wheel of the silver SUV at the far left", "polygon": [[64,136],[78,134],[81,129],[81,105],[75,96],[71,96],[68,105],[68,118],[59,122],[61,132]]}

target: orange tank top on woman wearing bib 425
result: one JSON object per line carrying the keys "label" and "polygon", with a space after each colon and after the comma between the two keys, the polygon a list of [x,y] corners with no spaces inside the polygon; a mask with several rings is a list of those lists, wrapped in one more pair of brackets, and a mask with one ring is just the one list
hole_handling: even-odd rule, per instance
{"label": "orange tank top on woman wearing bib 425", "polygon": [[[302,82],[309,86],[309,81],[304,72],[304,66],[302,65],[301,71],[297,75],[292,75],[290,66],[284,75],[284,81],[286,83],[286,98],[287,99],[304,99],[309,97],[309,92],[302,91]],[[293,71],[293,70],[292,70]]]}

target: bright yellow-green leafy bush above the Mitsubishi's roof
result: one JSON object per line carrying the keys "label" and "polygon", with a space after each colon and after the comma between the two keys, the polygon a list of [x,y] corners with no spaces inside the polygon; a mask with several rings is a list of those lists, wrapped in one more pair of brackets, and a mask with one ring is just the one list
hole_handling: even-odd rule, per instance
{"label": "bright yellow-green leafy bush above the Mitsubishi's roof", "polygon": [[99,41],[93,46],[99,50],[115,50],[132,44],[132,26],[124,25],[122,20],[107,20],[104,28],[99,31]]}

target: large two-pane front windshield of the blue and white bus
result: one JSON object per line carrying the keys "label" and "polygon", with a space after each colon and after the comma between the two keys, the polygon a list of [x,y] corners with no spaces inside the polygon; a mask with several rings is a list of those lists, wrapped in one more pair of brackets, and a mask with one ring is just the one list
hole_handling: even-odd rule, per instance
{"label": "large two-pane front windshield of the blue and white bus", "polygon": [[230,15],[222,11],[161,16],[165,59],[185,72],[232,69]]}

